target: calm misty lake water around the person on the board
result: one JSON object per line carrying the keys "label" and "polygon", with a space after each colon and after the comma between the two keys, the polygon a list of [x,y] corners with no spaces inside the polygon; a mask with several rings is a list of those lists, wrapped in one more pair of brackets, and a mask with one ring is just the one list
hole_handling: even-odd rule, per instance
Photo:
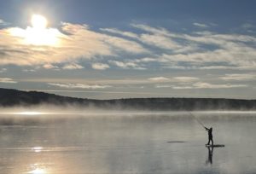
{"label": "calm misty lake water around the person on the board", "polygon": [[256,173],[256,113],[195,115],[224,148],[188,113],[2,116],[0,173]]}

